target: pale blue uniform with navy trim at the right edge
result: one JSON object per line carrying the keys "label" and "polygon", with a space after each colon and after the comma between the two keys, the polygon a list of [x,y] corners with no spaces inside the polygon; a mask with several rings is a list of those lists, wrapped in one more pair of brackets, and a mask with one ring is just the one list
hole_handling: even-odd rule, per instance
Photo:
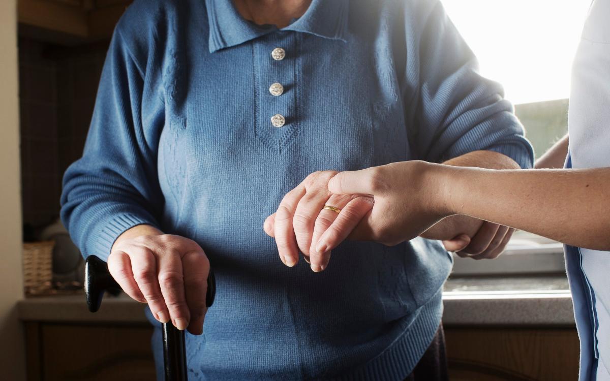
{"label": "pale blue uniform with navy trim at the right edge", "polygon": [[[567,168],[610,166],[609,17],[610,0],[594,0],[572,68]],[[598,207],[610,213],[610,205]],[[565,264],[581,340],[580,380],[610,380],[610,252],[566,246]]]}

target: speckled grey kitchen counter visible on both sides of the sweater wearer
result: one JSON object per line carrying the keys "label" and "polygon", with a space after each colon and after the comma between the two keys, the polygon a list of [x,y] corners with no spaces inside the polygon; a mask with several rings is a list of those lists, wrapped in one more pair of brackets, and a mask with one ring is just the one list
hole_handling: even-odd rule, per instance
{"label": "speckled grey kitchen counter visible on both sides of the sweater wearer", "polygon": [[[565,276],[456,277],[445,284],[445,326],[574,326]],[[18,302],[22,321],[146,323],[144,305],[126,294],[104,296],[90,313],[82,291]]]}

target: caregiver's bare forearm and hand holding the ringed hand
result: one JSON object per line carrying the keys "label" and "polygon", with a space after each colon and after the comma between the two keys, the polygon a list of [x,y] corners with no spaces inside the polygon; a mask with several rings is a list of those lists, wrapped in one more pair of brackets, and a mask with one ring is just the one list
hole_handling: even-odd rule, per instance
{"label": "caregiver's bare forearm and hand holding the ringed hand", "polygon": [[608,250],[609,188],[610,168],[494,171],[402,162],[342,172],[329,181],[329,190],[371,194],[375,205],[354,230],[348,216],[339,215],[316,247],[330,250],[350,232],[356,239],[396,244],[462,213],[573,246]]}

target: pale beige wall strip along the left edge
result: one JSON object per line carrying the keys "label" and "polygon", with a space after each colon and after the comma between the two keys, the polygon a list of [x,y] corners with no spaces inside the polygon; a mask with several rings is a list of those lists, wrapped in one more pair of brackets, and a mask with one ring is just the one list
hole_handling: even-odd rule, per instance
{"label": "pale beige wall strip along the left edge", "polygon": [[24,379],[23,333],[16,302],[23,297],[15,0],[0,1],[0,369],[4,380]]}

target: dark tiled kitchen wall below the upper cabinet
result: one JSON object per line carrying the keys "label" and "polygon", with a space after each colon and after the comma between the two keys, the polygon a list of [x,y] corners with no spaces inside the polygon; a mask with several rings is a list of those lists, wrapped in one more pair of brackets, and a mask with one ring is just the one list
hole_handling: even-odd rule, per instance
{"label": "dark tiled kitchen wall below the upper cabinet", "polygon": [[35,231],[59,216],[63,173],[82,155],[106,49],[19,38],[23,220]]}

